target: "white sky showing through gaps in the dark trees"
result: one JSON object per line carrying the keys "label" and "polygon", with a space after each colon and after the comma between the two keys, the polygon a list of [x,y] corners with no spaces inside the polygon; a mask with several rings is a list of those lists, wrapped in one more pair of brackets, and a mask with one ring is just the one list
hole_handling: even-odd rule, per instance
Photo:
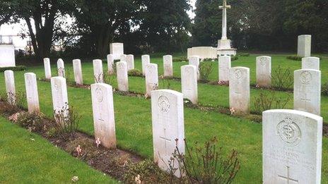
{"label": "white sky showing through gaps in the dark trees", "polygon": [[[197,0],[190,0],[190,4],[192,5],[192,8],[194,9],[195,3]],[[194,13],[192,11],[188,11],[189,17],[194,18]],[[0,27],[0,35],[18,35],[18,33],[21,32],[21,30],[26,27],[25,21],[21,21],[21,23],[16,23],[12,25],[1,25]],[[27,30],[26,28],[24,28]],[[6,37],[3,37],[4,40],[6,40]],[[25,47],[26,41],[28,40],[22,40],[18,37],[13,37],[13,44],[15,47]]]}

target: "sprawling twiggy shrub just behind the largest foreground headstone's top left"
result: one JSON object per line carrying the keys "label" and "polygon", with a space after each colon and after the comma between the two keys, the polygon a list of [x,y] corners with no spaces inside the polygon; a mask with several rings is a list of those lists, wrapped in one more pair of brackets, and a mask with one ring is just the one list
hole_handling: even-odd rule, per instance
{"label": "sprawling twiggy shrub just behind the largest foreground headstone's top left", "polygon": [[291,100],[291,95],[288,94],[287,99],[277,97],[276,92],[268,93],[261,92],[259,96],[254,99],[255,114],[262,114],[263,111],[269,109],[283,109]]}

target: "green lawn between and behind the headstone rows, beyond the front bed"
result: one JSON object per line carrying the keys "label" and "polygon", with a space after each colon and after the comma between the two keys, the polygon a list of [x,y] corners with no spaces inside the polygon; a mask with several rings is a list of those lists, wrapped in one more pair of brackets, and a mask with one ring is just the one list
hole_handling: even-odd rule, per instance
{"label": "green lawn between and behind the headstone rows, beyond the front bed", "polygon": [[[281,64],[283,67],[293,69],[300,68],[300,61],[288,61],[286,56],[273,56],[274,68]],[[159,73],[163,73],[163,63],[161,58],[151,59],[152,63],[158,63]],[[254,62],[255,56],[240,57],[238,61],[233,61],[233,66],[251,67],[251,78],[254,83]],[[52,61],[55,63],[55,61]],[[322,61],[322,70],[327,71],[326,60]],[[174,63],[175,76],[180,76],[180,66],[187,63]],[[136,58],[136,68],[141,69],[141,59]],[[211,75],[211,79],[217,79],[216,69]],[[71,68],[71,61],[66,61],[66,68]],[[104,69],[107,63],[104,62]],[[52,66],[55,75],[56,67]],[[71,69],[69,69],[71,70]],[[28,71],[37,74],[38,78],[44,77],[43,66],[28,68]],[[25,85],[23,73],[16,72],[16,88],[18,91],[24,91]],[[57,74],[56,74],[57,75]],[[327,73],[322,73],[324,81],[327,80]],[[71,76],[73,78],[73,76]],[[83,63],[83,79],[85,83],[93,83],[92,63]],[[4,76],[0,75],[0,85],[4,86]],[[116,78],[112,83],[117,87]],[[130,91],[145,92],[144,78],[130,77]],[[52,116],[52,99],[49,82],[38,82],[41,111],[47,116]],[[160,85],[161,87],[161,85]],[[171,87],[180,91],[180,82],[171,81]],[[0,89],[4,92],[4,87]],[[266,90],[252,90],[252,99],[260,92]],[[82,115],[80,130],[93,135],[93,116],[90,90],[68,87],[69,103],[74,106]],[[292,95],[287,92],[278,92],[281,97],[286,98]],[[328,117],[328,97],[322,97],[323,116]],[[220,87],[206,84],[199,84],[199,102],[211,106],[228,107],[228,87]],[[117,132],[117,143],[120,148],[129,149],[144,157],[152,157],[153,145],[151,134],[151,103],[143,97],[124,97],[114,95],[115,121]],[[293,107],[292,101],[287,108]],[[204,112],[197,109],[185,108],[185,136],[189,142],[205,142],[209,138],[216,136],[220,144],[224,147],[225,154],[232,149],[240,153],[241,170],[236,178],[237,183],[262,183],[262,125],[252,121],[219,114],[216,112]],[[328,182],[328,139],[323,139],[322,156],[322,182]]]}

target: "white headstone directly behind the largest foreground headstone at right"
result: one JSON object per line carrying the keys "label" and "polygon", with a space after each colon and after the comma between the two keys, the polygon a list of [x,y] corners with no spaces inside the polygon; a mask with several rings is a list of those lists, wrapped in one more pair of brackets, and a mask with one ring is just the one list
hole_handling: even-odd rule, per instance
{"label": "white headstone directly behind the largest foreground headstone at right", "polygon": [[320,116],[321,71],[295,70],[294,109]]}

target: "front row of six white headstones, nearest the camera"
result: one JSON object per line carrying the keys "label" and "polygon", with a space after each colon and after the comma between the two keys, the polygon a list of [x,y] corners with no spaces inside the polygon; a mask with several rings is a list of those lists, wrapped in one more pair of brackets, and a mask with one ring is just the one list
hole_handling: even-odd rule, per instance
{"label": "front row of six white headstones, nearest the camera", "polygon": [[[6,70],[5,78],[7,92],[14,94],[13,71]],[[25,73],[25,86],[28,110],[40,111],[34,73]],[[51,87],[54,111],[61,111],[69,104],[66,79],[51,78]],[[105,83],[91,85],[95,139],[107,148],[116,148],[117,142],[112,92],[112,86]],[[151,92],[153,157],[164,171],[176,147],[185,153],[183,98],[184,94],[173,90]],[[264,183],[320,183],[322,117],[296,110],[264,111],[262,135]]]}

